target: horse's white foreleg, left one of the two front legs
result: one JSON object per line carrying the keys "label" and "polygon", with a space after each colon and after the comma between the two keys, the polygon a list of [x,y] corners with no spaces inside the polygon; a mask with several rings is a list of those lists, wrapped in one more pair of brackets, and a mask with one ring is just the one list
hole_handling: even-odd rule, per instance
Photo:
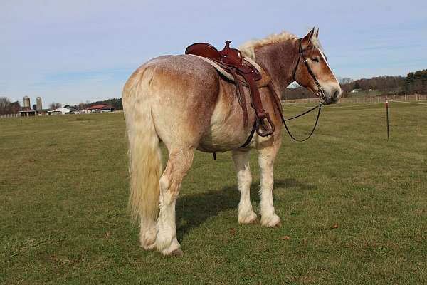
{"label": "horse's white foreleg, left one of the two front legs", "polygon": [[238,190],[241,192],[238,203],[238,222],[251,224],[256,221],[256,214],[251,204],[251,168],[249,167],[249,152],[233,150],[234,165],[236,165]]}

